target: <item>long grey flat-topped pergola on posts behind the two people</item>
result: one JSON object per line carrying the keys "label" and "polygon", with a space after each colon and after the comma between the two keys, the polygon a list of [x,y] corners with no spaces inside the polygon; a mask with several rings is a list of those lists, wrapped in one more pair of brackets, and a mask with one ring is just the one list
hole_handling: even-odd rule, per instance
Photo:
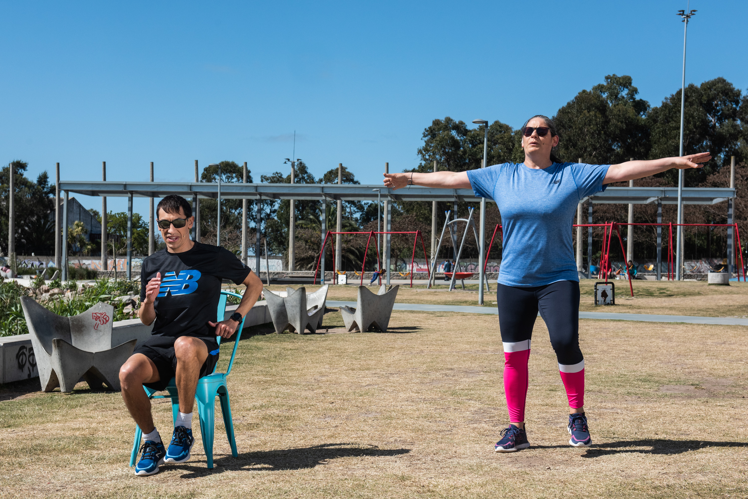
{"label": "long grey flat-topped pergola on posts behind the two people", "polygon": [[[211,198],[211,199],[248,199],[248,200],[321,200],[323,205],[328,201],[353,201],[353,200],[376,200],[379,189],[381,200],[385,203],[384,231],[392,230],[392,210],[389,203],[393,201],[467,201],[478,203],[472,189],[433,189],[428,187],[408,186],[396,191],[378,185],[352,185],[352,184],[269,184],[269,183],[203,183],[203,182],[117,182],[117,181],[75,181],[61,180],[58,189],[64,193],[67,201],[70,192],[79,195],[101,196],[101,197],[127,197],[128,202],[128,245],[127,245],[127,275],[131,277],[132,272],[132,198],[163,198],[166,195],[177,194],[184,198]],[[735,197],[735,189],[731,188],[684,188],[684,204],[714,204],[724,200],[732,200]],[[583,203],[588,198],[580,201]],[[632,203],[646,204],[657,203],[658,218],[661,219],[662,204],[675,204],[678,202],[678,189],[675,187],[608,187],[604,192],[591,196],[589,200],[589,217],[592,220],[593,203]],[[325,212],[326,206],[323,206]],[[64,210],[63,213],[67,213]],[[261,210],[257,210],[257,222],[260,222]],[[732,223],[732,203],[728,209],[728,223]],[[327,232],[326,221],[322,220],[321,240]],[[67,240],[67,220],[63,221],[62,230],[64,241]],[[58,231],[59,231],[58,227]],[[153,230],[153,227],[150,227]],[[591,239],[591,235],[589,239]],[[385,238],[385,269],[387,269],[387,284],[390,284],[390,236]],[[242,238],[242,240],[245,240]],[[485,237],[483,238],[485,240]],[[661,239],[660,239],[661,240]],[[591,241],[589,247],[592,247]],[[67,245],[63,245],[63,273],[67,278]],[[659,245],[658,245],[659,248]],[[246,248],[245,248],[246,252]],[[483,282],[483,265],[485,248],[480,248],[479,269],[480,282]],[[255,249],[256,269],[260,269],[260,239],[257,239]],[[245,261],[245,260],[244,260]],[[324,275],[325,260],[322,260],[322,272]]]}

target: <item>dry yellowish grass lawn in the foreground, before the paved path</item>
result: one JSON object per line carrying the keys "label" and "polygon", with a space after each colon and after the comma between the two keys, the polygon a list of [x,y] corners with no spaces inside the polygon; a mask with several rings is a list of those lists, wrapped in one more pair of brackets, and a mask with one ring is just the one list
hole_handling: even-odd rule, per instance
{"label": "dry yellowish grass lawn in the foreground, before the paved path", "polygon": [[[325,323],[342,325],[340,314]],[[190,462],[135,477],[120,394],[85,383],[72,395],[40,393],[37,380],[0,386],[0,495],[748,497],[746,328],[581,321],[594,445],[577,449],[539,319],[532,447],[497,454],[507,420],[497,317],[395,312],[390,325],[386,334],[245,334],[229,385],[239,457],[216,423],[212,470],[196,425]],[[171,409],[154,407],[168,435]]]}

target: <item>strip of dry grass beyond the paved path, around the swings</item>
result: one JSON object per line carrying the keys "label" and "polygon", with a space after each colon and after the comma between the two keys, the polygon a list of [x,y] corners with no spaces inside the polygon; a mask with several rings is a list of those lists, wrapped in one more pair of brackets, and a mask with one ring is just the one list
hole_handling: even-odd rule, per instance
{"label": "strip of dry grass beyond the paved path, around the swings", "polygon": [[[615,307],[595,307],[592,304],[595,282],[597,281],[581,281],[582,299],[579,310],[710,317],[748,316],[748,284],[743,282],[732,282],[730,286],[709,286],[703,281],[634,281],[634,298],[631,298],[628,282],[613,281],[616,284]],[[466,285],[466,287],[471,289],[450,293],[446,286],[439,290],[427,290],[423,286],[414,286],[411,289],[407,285],[401,285],[397,292],[397,301],[398,303],[477,305],[478,285]],[[308,290],[317,288],[318,286],[308,287]],[[284,291],[286,287],[273,285],[270,289]],[[375,287],[370,289],[376,291]],[[328,299],[356,301],[357,293],[358,287],[356,286],[331,286]],[[496,306],[495,283],[491,283],[491,292],[485,293],[484,300],[485,306]]]}

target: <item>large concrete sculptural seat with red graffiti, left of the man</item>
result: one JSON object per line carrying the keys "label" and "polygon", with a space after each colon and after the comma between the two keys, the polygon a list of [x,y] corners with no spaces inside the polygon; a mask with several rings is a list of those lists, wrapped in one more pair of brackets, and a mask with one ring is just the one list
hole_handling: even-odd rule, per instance
{"label": "large concrete sculptural seat with red graffiti, left of the man", "polygon": [[138,340],[111,346],[114,307],[97,303],[84,313],[64,317],[21,297],[43,391],[70,393],[81,378],[91,388],[120,390],[120,367]]}

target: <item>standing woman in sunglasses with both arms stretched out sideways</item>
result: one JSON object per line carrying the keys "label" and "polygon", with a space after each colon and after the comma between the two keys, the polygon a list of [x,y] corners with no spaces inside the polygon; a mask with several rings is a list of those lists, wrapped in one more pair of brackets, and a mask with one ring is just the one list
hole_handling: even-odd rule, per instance
{"label": "standing woman in sunglasses with both arms stretched out sideways", "polygon": [[494,200],[503,225],[503,254],[496,293],[504,347],[504,392],[509,427],[496,452],[530,447],[524,427],[529,377],[530,338],[540,312],[556,352],[568,397],[569,444],[589,447],[592,438],[584,413],[584,358],[579,349],[579,277],[571,242],[571,224],[583,198],[607,184],[658,174],[669,168],[700,168],[709,153],[620,165],[563,163],[551,159],[559,143],[553,121],[536,115],[521,129],[524,162],[478,170],[432,174],[384,174],[384,186],[472,188]]}

